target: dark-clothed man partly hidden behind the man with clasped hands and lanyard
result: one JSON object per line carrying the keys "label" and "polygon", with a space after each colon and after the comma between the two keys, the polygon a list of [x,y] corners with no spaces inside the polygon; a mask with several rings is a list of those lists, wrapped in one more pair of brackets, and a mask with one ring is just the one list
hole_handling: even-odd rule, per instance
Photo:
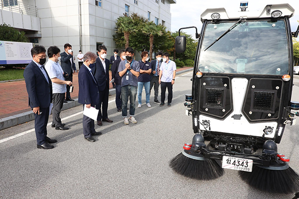
{"label": "dark-clothed man partly hidden behind the man with clasped hands and lanyard", "polygon": [[116,108],[118,112],[122,111],[122,100],[121,100],[121,93],[122,93],[122,77],[120,77],[118,73],[118,67],[121,63],[121,61],[124,61],[126,59],[126,52],[125,49],[122,49],[120,51],[120,59],[117,59],[113,62],[111,66],[111,73],[112,73],[112,78],[114,78],[114,83],[115,83],[115,103],[116,103]]}

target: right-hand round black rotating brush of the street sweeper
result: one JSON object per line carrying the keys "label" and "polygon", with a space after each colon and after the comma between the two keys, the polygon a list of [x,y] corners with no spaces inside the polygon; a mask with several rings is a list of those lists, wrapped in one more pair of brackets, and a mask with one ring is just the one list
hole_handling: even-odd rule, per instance
{"label": "right-hand round black rotating brush of the street sweeper", "polygon": [[[263,145],[263,153],[277,154],[277,145],[268,140]],[[248,185],[270,193],[290,194],[299,190],[299,175],[286,162],[290,159],[277,154],[269,167],[253,165],[252,172],[239,171],[239,175]]]}

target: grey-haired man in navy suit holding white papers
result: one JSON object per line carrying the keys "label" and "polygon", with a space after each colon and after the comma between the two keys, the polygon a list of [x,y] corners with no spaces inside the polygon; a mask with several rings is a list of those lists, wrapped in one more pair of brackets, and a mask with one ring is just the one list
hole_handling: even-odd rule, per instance
{"label": "grey-haired man in navy suit holding white papers", "polygon": [[[86,52],[83,57],[83,65],[78,73],[79,82],[79,96],[78,102],[83,104],[83,109],[95,107],[100,100],[100,94],[98,84],[94,78],[90,64],[95,63],[97,55],[93,52]],[[95,135],[102,135],[101,132],[96,132],[95,122],[93,119],[83,115],[83,135],[84,138],[89,142],[95,142],[96,140],[92,137]]]}

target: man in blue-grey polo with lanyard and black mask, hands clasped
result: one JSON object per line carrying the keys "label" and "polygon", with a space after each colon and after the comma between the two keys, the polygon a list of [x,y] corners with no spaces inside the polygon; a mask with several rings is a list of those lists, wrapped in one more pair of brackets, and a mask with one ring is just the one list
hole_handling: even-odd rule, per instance
{"label": "man in blue-grey polo with lanyard and black mask, hands clasped", "polygon": [[[140,74],[140,64],[138,61],[133,59],[134,49],[131,47],[126,48],[126,60],[122,61],[119,65],[119,75],[122,77],[122,116],[124,118],[124,123],[129,124],[137,123],[134,118],[135,115],[135,100],[137,94],[138,80],[137,77]],[[130,118],[128,115],[128,101],[130,96]]]}

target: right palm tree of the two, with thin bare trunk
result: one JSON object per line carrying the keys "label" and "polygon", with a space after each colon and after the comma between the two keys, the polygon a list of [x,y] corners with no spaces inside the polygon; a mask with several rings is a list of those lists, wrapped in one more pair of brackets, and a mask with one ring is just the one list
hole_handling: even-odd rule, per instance
{"label": "right palm tree of the two, with thin bare trunk", "polygon": [[148,22],[142,29],[142,32],[146,35],[149,35],[149,58],[152,60],[152,44],[154,36],[161,36],[162,33],[162,25],[156,25],[152,21]]}

